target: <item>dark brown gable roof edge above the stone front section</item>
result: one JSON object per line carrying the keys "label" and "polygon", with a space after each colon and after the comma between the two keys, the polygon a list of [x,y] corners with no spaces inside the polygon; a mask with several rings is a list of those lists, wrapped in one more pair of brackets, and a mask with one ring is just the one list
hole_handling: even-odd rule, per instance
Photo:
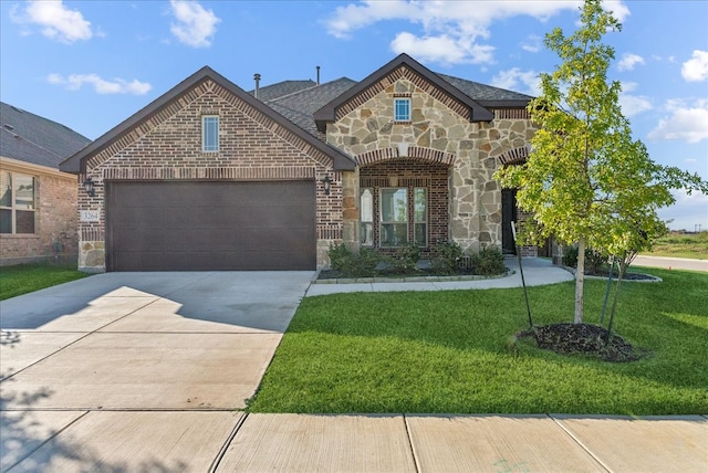
{"label": "dark brown gable roof edge above the stone front section", "polygon": [[365,92],[368,87],[378,83],[382,78],[402,66],[409,67],[415,73],[423,76],[426,81],[434,84],[439,90],[444,91],[450,97],[455,98],[459,103],[466,105],[469,108],[470,122],[490,122],[494,118],[494,114],[485,108],[481,104],[472,99],[469,95],[462,93],[459,88],[452,86],[449,82],[442,80],[438,74],[410,57],[408,54],[399,54],[393,61],[385,64],[374,73],[369,74],[362,82],[351,87],[348,91],[331,101],[322,108],[314,113],[314,119],[320,132],[325,132],[326,123],[334,122],[336,119],[336,109],[346,104],[352,98]]}

